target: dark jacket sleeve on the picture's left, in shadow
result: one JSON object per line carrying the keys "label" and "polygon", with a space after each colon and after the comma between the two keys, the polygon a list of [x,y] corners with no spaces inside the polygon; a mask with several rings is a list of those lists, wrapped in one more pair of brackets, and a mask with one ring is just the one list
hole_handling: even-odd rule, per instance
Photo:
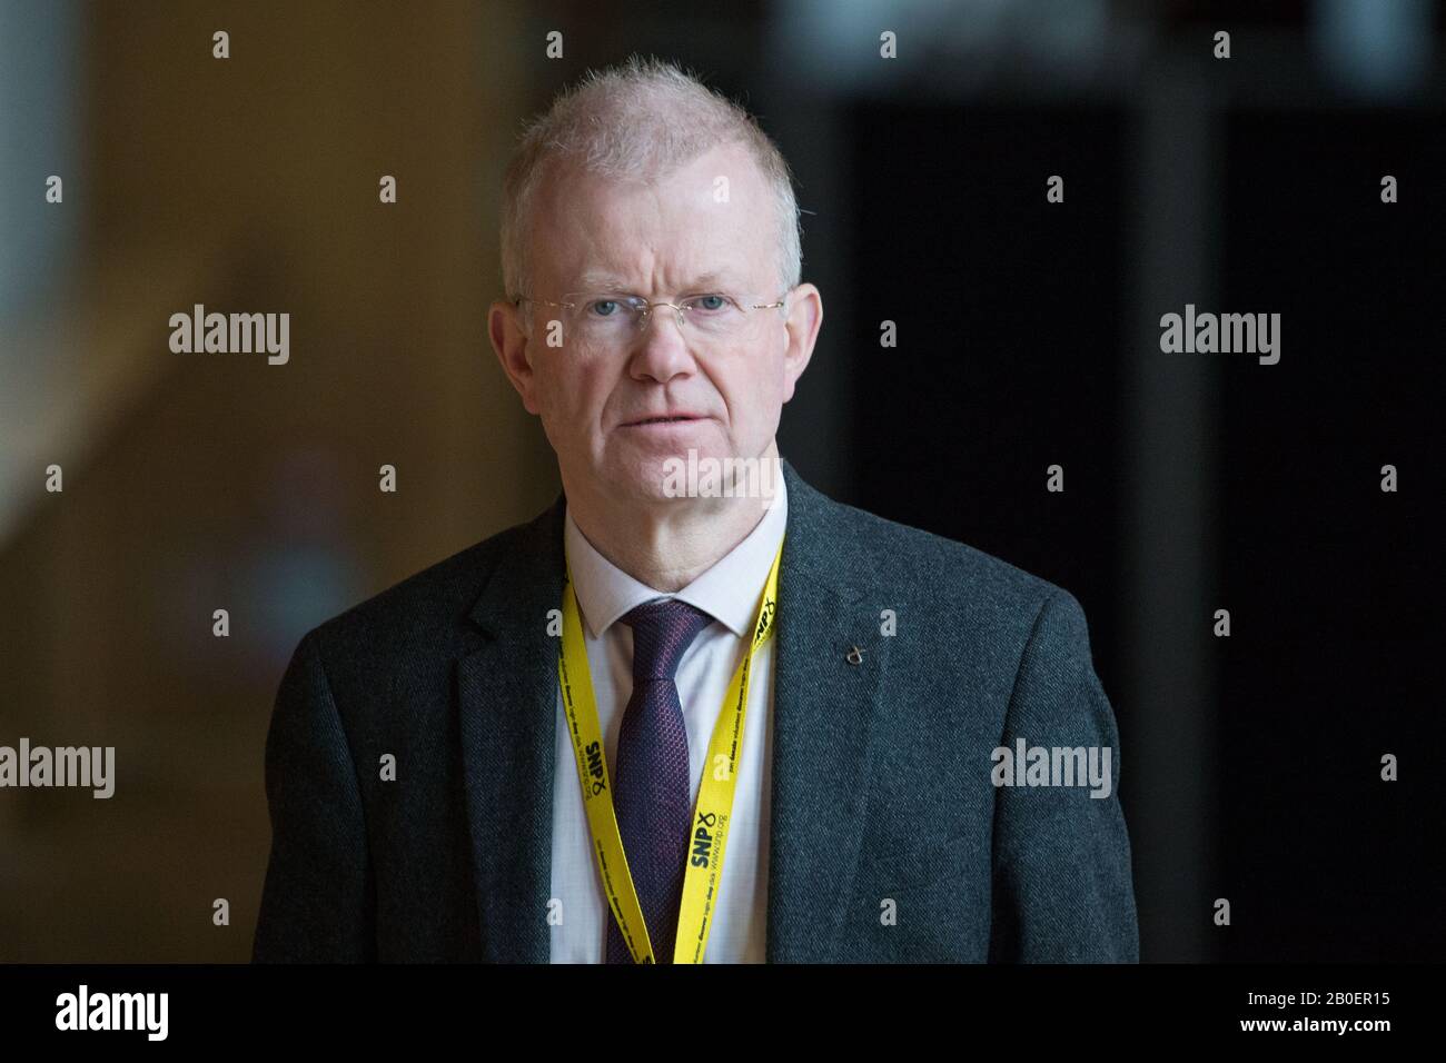
{"label": "dark jacket sleeve on the picture's left, in shadow", "polygon": [[315,632],[286,667],[266,735],[272,846],[253,963],[376,959],[356,767]]}

